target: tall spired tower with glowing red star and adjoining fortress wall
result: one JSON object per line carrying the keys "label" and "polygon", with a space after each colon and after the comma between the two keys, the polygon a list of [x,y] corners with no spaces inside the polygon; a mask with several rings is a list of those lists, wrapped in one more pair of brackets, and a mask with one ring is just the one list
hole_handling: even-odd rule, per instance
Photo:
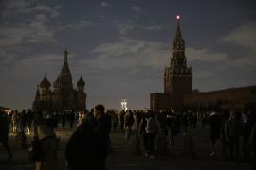
{"label": "tall spired tower with glowing red star and adjoining fortress wall", "polygon": [[256,86],[204,93],[192,91],[192,67],[187,66],[179,18],[172,49],[170,66],[164,71],[164,93],[150,94],[151,110],[179,110],[184,107],[243,110],[256,107]]}

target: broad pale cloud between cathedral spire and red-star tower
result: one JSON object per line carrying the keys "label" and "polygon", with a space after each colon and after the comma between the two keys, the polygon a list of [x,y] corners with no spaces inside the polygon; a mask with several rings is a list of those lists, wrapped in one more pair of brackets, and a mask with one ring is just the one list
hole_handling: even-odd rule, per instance
{"label": "broad pale cloud between cathedral spire and red-star tower", "polygon": [[91,53],[95,59],[83,59],[80,62],[89,67],[111,70],[136,69],[150,67],[160,69],[168,61],[167,45],[160,42],[149,42],[121,38],[119,42],[108,42],[99,45]]}

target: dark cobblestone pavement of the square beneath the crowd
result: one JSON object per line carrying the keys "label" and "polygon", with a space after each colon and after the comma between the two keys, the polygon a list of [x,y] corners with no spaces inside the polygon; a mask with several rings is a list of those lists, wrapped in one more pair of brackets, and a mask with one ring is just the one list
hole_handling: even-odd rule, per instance
{"label": "dark cobblestone pavement of the square beneath the crowd", "polygon": [[[74,129],[73,129],[74,130]],[[58,129],[57,135],[61,136],[59,150],[59,169],[65,170],[64,148],[72,134],[72,129]],[[109,154],[106,164],[107,170],[247,170],[249,163],[224,161],[220,153],[220,144],[214,157],[210,157],[210,141],[207,128],[191,130],[195,143],[195,157],[190,158],[182,154],[182,137],[179,135],[174,146],[169,146],[167,156],[156,155],[155,159],[146,158],[143,154],[136,154],[133,142],[126,144],[124,134],[112,132],[113,152]],[[31,136],[27,136],[27,143],[31,141]],[[133,141],[133,140],[132,140]],[[30,170],[34,169],[33,163],[27,160],[26,149],[21,149],[13,134],[9,134],[9,144],[13,152],[13,160],[7,160],[7,153],[2,145],[0,146],[0,170]]]}

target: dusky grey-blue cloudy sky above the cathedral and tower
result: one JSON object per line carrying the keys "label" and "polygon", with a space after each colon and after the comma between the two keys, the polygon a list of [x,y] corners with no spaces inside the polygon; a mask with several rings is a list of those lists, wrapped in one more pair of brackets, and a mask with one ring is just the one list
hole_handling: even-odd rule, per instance
{"label": "dusky grey-blue cloudy sky above the cathedral and tower", "polygon": [[60,74],[64,49],[87,106],[149,108],[163,92],[181,16],[193,89],[256,84],[254,0],[0,0],[0,106],[31,108],[44,75]]}

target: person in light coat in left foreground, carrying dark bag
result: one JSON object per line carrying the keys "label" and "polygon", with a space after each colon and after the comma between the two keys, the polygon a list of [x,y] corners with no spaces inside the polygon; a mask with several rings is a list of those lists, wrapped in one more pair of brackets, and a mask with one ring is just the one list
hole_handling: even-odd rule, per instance
{"label": "person in light coat in left foreground, carrying dark bag", "polygon": [[57,148],[58,142],[56,134],[46,123],[40,123],[36,127],[35,139],[37,139],[37,148],[39,159],[35,161],[36,170],[58,170]]}

